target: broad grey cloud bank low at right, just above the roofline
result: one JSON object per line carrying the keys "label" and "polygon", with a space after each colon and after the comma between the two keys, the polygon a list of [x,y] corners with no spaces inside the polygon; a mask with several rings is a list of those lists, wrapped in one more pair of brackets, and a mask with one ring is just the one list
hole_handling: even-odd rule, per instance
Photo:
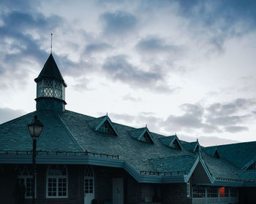
{"label": "broad grey cloud bank low at right, just above the roofline", "polygon": [[[238,133],[249,130],[244,124],[248,119],[255,117],[246,109],[248,104],[256,105],[255,100],[245,98],[238,98],[230,103],[214,103],[206,107],[186,103],[180,106],[184,114],[170,114],[161,125],[168,131],[199,129],[203,130],[203,133]],[[246,114],[241,114],[241,111],[245,111]]]}

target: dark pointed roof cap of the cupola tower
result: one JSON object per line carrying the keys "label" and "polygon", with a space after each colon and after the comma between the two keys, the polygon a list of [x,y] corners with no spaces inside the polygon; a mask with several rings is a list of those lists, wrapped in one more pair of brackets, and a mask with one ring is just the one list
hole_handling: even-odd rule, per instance
{"label": "dark pointed roof cap of the cupola tower", "polygon": [[[63,77],[61,76],[61,72],[53,58],[53,55],[50,53],[48,59],[45,62],[45,65],[42,68],[39,76],[34,79],[35,82],[39,82],[43,78],[54,78],[61,82],[64,82]],[[67,85],[66,85],[67,86]]]}

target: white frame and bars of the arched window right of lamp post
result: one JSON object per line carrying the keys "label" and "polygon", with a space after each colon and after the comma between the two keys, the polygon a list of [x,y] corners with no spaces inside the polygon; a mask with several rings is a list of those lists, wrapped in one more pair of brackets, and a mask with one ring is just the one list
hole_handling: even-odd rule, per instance
{"label": "white frame and bars of the arched window right of lamp post", "polygon": [[[46,198],[68,198],[69,197],[69,179],[68,179],[68,171],[65,165],[57,165],[59,166],[63,166],[63,168],[65,168],[66,170],[66,175],[48,175],[48,170],[50,169],[50,166],[48,166],[48,169],[46,170]],[[56,178],[56,195],[48,195],[48,188],[49,188],[49,178]],[[66,195],[59,195],[59,178],[63,179],[66,178]]]}

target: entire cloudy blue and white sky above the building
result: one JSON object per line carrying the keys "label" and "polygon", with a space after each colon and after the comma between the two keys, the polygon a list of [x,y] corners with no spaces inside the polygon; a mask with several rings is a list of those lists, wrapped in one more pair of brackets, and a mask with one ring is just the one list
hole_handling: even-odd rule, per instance
{"label": "entire cloudy blue and white sky above the building", "polygon": [[256,1],[0,1],[0,123],[35,110],[50,54],[66,108],[205,146],[256,140]]}

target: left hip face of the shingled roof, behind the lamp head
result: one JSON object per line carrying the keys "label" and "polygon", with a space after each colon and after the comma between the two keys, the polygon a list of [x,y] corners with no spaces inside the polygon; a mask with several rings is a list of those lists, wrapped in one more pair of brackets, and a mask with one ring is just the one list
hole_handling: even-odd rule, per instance
{"label": "left hip face of the shingled roof, behind the lamp head", "polygon": [[0,125],[1,150],[31,151],[31,136],[27,124],[31,122],[34,114],[37,114],[45,126],[41,136],[37,139],[38,150],[83,151],[66,125],[61,121],[59,115],[50,110],[34,111]]}

